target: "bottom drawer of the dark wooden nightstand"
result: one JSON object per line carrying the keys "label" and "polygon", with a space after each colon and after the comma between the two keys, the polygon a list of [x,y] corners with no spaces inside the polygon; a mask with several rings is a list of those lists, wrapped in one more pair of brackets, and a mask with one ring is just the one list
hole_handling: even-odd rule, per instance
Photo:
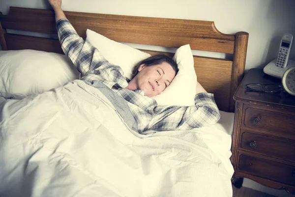
{"label": "bottom drawer of the dark wooden nightstand", "polygon": [[295,166],[242,154],[239,157],[238,168],[254,176],[295,186]]}

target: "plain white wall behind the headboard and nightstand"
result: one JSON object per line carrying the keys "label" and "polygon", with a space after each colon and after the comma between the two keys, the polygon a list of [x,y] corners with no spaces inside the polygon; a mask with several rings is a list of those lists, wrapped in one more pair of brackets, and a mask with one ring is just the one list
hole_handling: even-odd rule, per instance
{"label": "plain white wall behind the headboard and nightstand", "polygon": [[[0,0],[9,6],[50,8],[47,0]],[[214,21],[222,33],[249,33],[246,69],[263,67],[277,55],[283,33],[295,36],[294,0],[63,0],[67,11]],[[291,58],[295,59],[295,50]],[[265,190],[245,180],[246,187]],[[271,190],[268,190],[272,193]],[[280,195],[281,194],[281,195]],[[284,192],[277,196],[285,196]]]}

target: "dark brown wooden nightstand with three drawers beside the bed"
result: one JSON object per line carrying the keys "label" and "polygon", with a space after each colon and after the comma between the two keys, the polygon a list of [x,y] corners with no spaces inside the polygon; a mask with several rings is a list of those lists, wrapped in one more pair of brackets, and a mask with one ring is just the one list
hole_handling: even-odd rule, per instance
{"label": "dark brown wooden nightstand with three drawers beside the bed", "polygon": [[295,97],[247,91],[250,83],[281,85],[281,80],[253,68],[236,90],[233,184],[240,187],[245,177],[295,194]]}

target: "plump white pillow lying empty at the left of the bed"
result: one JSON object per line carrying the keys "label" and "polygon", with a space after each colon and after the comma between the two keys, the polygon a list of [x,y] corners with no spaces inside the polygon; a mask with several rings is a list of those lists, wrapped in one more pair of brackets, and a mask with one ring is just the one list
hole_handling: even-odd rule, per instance
{"label": "plump white pillow lying empty at the left of the bed", "polygon": [[35,50],[0,51],[2,97],[26,97],[78,78],[78,70],[65,55]]}

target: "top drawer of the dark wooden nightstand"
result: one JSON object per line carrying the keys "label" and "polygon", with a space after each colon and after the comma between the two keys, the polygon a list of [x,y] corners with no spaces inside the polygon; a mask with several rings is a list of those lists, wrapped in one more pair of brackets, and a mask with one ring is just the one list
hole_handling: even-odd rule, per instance
{"label": "top drawer of the dark wooden nightstand", "polygon": [[244,125],[248,128],[295,135],[295,118],[292,115],[245,106]]}

